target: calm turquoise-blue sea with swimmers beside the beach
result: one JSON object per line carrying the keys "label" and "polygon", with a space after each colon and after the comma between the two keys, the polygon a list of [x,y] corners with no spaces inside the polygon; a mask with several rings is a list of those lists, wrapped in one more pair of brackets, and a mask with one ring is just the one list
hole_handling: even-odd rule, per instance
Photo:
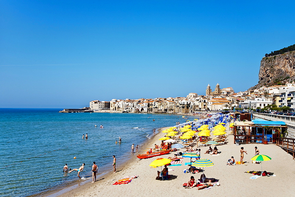
{"label": "calm turquoise-blue sea with swimmers beside the beach", "polygon": [[[0,109],[0,196],[27,196],[78,181],[76,171],[63,173],[65,163],[72,169],[86,163],[83,178],[90,178],[93,161],[100,172],[112,170],[112,155],[119,168],[132,157],[132,143],[142,144],[154,128],[184,122],[177,115],[60,110]],[[86,133],[88,139],[82,139]],[[119,137],[122,144],[116,145]]]}

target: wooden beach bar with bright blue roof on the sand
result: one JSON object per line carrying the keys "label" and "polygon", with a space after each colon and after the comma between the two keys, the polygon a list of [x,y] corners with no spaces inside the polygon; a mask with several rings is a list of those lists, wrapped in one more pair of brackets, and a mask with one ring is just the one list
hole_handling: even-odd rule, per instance
{"label": "wooden beach bar with bright blue roof on the sand", "polygon": [[288,127],[283,121],[254,119],[234,123],[234,143],[276,143],[276,138]]}

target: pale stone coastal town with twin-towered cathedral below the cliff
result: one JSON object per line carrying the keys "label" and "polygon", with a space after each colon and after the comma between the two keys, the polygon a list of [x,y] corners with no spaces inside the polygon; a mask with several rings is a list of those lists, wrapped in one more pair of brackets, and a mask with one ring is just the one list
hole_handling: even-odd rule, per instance
{"label": "pale stone coastal town with twin-towered cathedral below the cliff", "polygon": [[[208,84],[206,95],[189,93],[186,97],[112,99],[111,101],[90,101],[83,110],[100,112],[135,112],[135,113],[193,113],[194,111],[229,111],[235,109],[262,110],[267,106],[276,107],[276,111],[295,109],[295,82],[284,85],[263,86],[254,90],[235,93],[232,87],[220,88],[219,84],[212,91]],[[62,112],[77,111],[64,109]],[[82,109],[78,109],[82,110]]]}

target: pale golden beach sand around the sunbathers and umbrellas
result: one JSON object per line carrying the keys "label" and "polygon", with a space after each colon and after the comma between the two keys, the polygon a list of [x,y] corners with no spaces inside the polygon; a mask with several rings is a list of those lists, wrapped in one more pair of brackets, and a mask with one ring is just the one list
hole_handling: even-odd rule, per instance
{"label": "pale golden beach sand around the sunbathers and umbrellas", "polygon": [[[165,133],[161,131],[166,128],[159,129],[159,134],[150,139],[141,150],[145,148],[152,148],[154,144],[160,144],[160,137]],[[257,179],[250,179],[253,174],[244,173],[246,171],[260,171],[260,164],[253,164],[250,160],[255,156],[254,147],[257,146],[260,154],[268,155],[272,158],[270,161],[262,163],[263,171],[272,172],[275,177],[259,177]],[[240,147],[248,152],[245,154],[244,161],[247,165],[226,165],[231,156],[236,161],[240,161]],[[155,180],[158,168],[150,168],[149,164],[157,158],[168,158],[173,156],[173,153],[152,157],[149,159],[139,160],[134,154],[127,163],[119,165],[117,161],[117,173],[104,175],[95,183],[85,183],[83,185],[76,185],[71,191],[53,194],[51,196],[195,196],[195,195],[218,195],[218,196],[294,196],[295,193],[295,162],[292,156],[275,144],[245,144],[236,146],[233,143],[233,136],[228,137],[226,145],[217,146],[221,153],[218,156],[204,154],[208,147],[200,147],[201,158],[210,159],[214,162],[214,166],[204,168],[204,174],[207,178],[216,178],[219,180],[220,186],[214,186],[208,190],[197,190],[197,188],[186,189],[182,185],[187,183],[191,176],[199,179],[202,173],[183,173],[184,162],[189,162],[190,158],[183,158],[181,166],[171,166],[168,168],[174,171],[169,171],[171,178],[168,180]],[[127,150],[129,151],[129,150]],[[181,152],[184,149],[180,150]],[[140,154],[145,153],[141,151]],[[112,164],[110,164],[112,165]],[[117,180],[125,176],[139,175],[138,178],[133,179],[128,184],[112,185]]]}

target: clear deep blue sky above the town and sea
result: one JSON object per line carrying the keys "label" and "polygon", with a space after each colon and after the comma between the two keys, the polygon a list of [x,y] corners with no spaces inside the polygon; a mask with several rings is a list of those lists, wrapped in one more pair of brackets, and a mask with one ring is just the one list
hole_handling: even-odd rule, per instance
{"label": "clear deep blue sky above the town and sea", "polygon": [[294,1],[0,1],[0,107],[245,91],[295,44]]}

